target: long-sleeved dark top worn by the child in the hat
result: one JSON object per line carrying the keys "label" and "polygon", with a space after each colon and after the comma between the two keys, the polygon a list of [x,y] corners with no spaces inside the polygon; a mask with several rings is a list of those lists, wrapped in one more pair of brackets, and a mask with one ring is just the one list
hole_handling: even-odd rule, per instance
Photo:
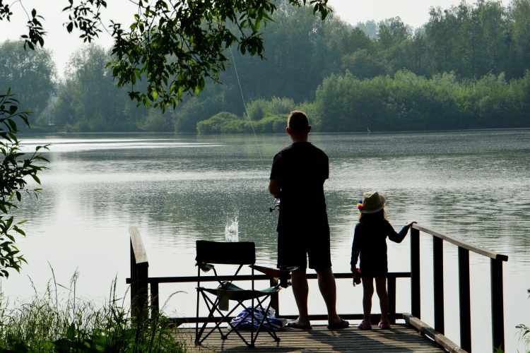
{"label": "long-sleeved dark top worn by the child in the hat", "polygon": [[387,237],[401,243],[408,229],[405,226],[397,233],[387,221],[358,223],[353,235],[351,248],[351,267],[357,265],[360,256],[360,275],[362,277],[382,277],[388,273]]}

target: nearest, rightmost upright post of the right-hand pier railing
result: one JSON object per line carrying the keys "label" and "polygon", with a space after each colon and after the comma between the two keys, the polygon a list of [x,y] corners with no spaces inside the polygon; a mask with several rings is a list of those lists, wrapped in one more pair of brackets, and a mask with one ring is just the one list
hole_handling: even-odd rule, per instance
{"label": "nearest, rightmost upright post of the right-hand pier railing", "polygon": [[502,261],[491,259],[491,327],[493,352],[495,348],[505,348],[504,294],[502,291]]}

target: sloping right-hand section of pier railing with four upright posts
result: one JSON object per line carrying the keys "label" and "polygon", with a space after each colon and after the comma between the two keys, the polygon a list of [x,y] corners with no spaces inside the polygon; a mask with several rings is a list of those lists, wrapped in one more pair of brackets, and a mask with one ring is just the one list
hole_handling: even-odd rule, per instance
{"label": "sloping right-hand section of pier railing with four upright posts", "polygon": [[420,232],[432,235],[435,330],[442,335],[444,323],[444,251],[443,242],[458,246],[460,347],[471,353],[471,289],[469,283],[469,251],[490,258],[491,268],[491,321],[493,352],[495,347],[505,349],[504,295],[502,290],[502,262],[508,256],[475,246],[467,241],[437,232],[421,225],[411,228],[411,311],[421,318],[420,295]]}

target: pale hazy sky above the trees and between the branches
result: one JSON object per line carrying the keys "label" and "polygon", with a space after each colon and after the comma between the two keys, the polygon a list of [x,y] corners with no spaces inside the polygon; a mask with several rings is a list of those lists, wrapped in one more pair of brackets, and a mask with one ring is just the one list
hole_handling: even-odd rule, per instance
{"label": "pale hazy sky above the trees and between the branches", "polygon": [[[69,4],[69,1],[22,0],[21,2],[28,13],[36,8],[37,14],[40,13],[45,18],[43,26],[48,32],[45,37],[45,48],[52,50],[57,72],[59,76],[63,76],[69,57],[83,45],[83,40],[78,38],[78,34],[69,35],[63,26],[68,16],[61,11]],[[329,5],[334,7],[336,16],[351,25],[367,20],[379,22],[379,20],[399,16],[405,24],[417,28],[428,21],[430,7],[449,8],[459,2],[460,0],[329,0]],[[102,19],[104,23],[109,23],[111,18],[118,23],[131,23],[134,10],[134,4],[129,0],[108,0],[107,10],[104,11]],[[20,35],[26,34],[25,23],[28,17],[20,2],[13,4],[12,12],[14,15],[11,17],[11,22],[0,21],[0,42],[8,39],[17,40]],[[112,45],[112,37],[102,32],[97,42],[108,48]]]}

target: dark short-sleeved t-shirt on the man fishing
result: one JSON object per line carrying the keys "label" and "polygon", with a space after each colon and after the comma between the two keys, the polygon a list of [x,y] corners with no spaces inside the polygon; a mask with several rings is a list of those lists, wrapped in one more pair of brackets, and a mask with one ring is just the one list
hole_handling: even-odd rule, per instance
{"label": "dark short-sleeved t-shirt on the man fishing", "polygon": [[281,179],[278,232],[323,228],[329,232],[324,198],[328,178],[328,156],[311,143],[293,143],[274,156],[270,179]]}

